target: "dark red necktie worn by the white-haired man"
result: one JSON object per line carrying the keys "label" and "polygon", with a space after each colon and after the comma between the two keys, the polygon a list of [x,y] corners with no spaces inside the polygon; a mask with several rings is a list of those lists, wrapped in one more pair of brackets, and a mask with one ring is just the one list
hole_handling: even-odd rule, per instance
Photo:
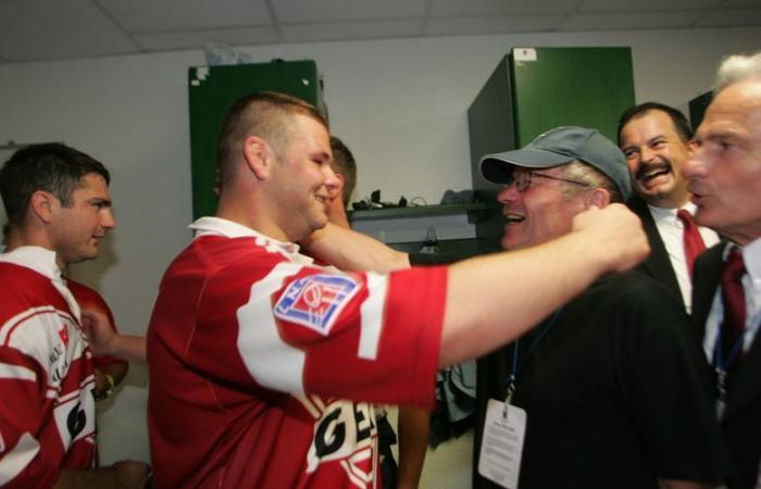
{"label": "dark red necktie worn by the white-haired man", "polygon": [[[724,322],[722,323],[722,356],[727,364],[732,362],[729,358],[735,344],[740,341],[745,333],[745,291],[743,290],[743,275],[745,275],[745,263],[739,248],[733,247],[729,256],[724,264],[722,273],[722,301],[724,302]],[[735,356],[739,360],[743,346]]]}

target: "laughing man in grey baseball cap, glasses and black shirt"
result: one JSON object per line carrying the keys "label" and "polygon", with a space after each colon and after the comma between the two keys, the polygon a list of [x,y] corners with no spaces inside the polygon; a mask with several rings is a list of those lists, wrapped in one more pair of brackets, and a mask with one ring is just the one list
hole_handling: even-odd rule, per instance
{"label": "laughing man in grey baseball cap, glasses and black shirt", "polygon": [[[558,127],[523,149],[486,155],[481,171],[504,185],[497,199],[508,250],[563,236],[576,214],[631,193],[624,154],[584,127]],[[509,391],[511,410],[526,416],[517,449],[522,489],[721,482],[727,454],[702,377],[706,361],[685,337],[687,321],[650,277],[608,275],[513,344],[482,358],[474,487],[500,487],[490,481],[499,478],[499,436],[487,413]]]}

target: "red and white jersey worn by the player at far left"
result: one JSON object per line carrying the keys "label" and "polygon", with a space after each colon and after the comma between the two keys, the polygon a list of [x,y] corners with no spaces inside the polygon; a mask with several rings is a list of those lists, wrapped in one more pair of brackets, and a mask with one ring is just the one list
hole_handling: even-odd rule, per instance
{"label": "red and white jersey worn by the player at far left", "polygon": [[90,350],[53,252],[0,256],[0,486],[50,488],[92,466]]}

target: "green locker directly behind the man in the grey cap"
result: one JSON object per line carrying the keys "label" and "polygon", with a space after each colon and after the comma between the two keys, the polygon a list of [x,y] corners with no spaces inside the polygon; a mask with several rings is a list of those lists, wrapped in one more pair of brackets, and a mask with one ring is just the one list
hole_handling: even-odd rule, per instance
{"label": "green locker directly behind the man in the grey cap", "polygon": [[476,225],[478,239],[498,249],[504,224],[496,203],[500,187],[478,171],[484,154],[567,125],[594,127],[615,141],[619,116],[634,103],[631,48],[512,49],[467,110],[473,188],[492,203]]}

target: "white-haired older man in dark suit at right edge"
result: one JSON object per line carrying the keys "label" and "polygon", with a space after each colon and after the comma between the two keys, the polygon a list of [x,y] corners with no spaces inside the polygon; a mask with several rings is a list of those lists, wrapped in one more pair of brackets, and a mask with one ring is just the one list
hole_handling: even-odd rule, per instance
{"label": "white-haired older man in dark suit at right edge", "polygon": [[729,489],[761,477],[761,52],[727,58],[684,168],[698,224],[728,239],[698,259],[693,315],[715,372],[735,462]]}

